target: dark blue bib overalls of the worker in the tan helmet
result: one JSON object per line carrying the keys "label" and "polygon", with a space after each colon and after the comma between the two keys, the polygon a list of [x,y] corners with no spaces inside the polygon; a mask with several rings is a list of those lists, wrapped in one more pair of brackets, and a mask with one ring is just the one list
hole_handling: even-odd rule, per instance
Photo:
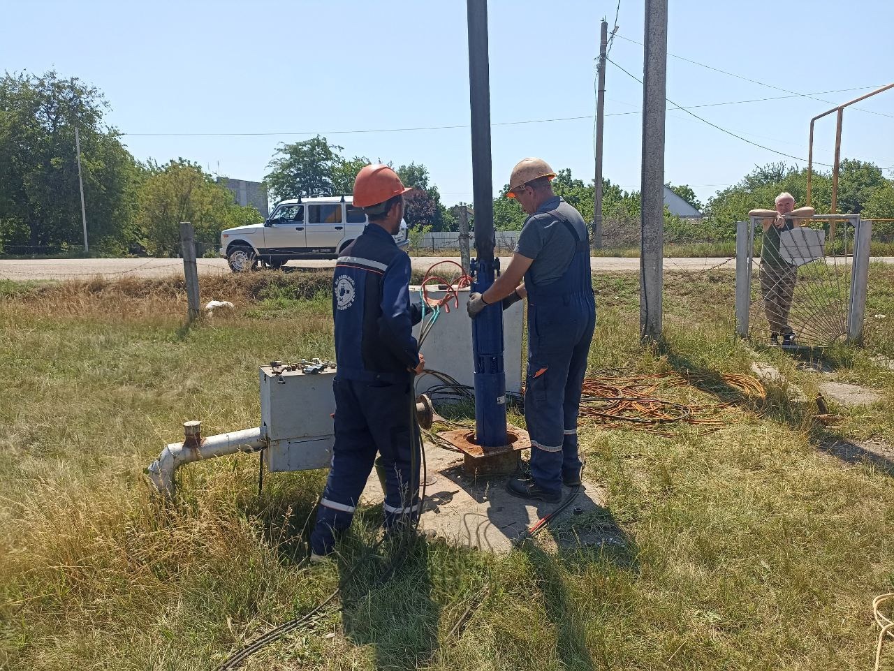
{"label": "dark blue bib overalls of the worker in the tan helmet", "polygon": [[[558,280],[538,285],[531,264],[527,289],[527,379],[525,421],[531,438],[531,475],[544,491],[560,492],[562,478],[577,478],[578,409],[593,340],[596,304],[590,273],[590,241],[572,221],[584,224],[564,201],[549,210],[575,242],[574,256]],[[586,231],[586,224],[581,226]]]}

